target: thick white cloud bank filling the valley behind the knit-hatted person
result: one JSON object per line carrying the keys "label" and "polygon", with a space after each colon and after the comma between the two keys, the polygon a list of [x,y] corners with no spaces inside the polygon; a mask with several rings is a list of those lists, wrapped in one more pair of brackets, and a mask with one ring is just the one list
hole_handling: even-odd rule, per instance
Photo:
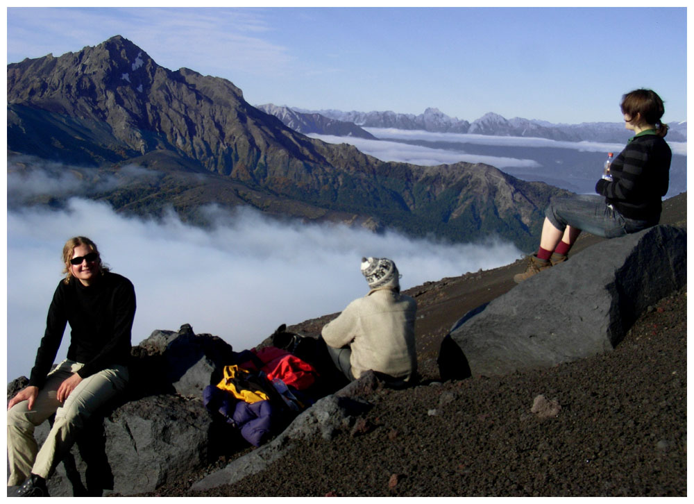
{"label": "thick white cloud bank filling the valley behind the knit-hatted person", "polygon": [[[133,344],[153,330],[191,324],[239,351],[282,323],[339,312],[366,294],[363,255],[395,260],[403,289],[521,255],[499,240],[446,244],[341,225],[280,224],[246,208],[208,212],[217,224],[202,229],[173,213],[128,218],[85,199],[71,199],[60,211],[8,210],[8,380],[31,370],[61,278],[60,251],[74,235],[91,237],[112,271],[135,285]],[[67,331],[58,358],[67,352]]]}

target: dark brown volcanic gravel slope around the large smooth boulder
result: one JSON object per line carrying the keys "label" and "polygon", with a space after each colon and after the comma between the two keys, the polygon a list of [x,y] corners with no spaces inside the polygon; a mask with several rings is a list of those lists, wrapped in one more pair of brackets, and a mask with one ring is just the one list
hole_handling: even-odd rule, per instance
{"label": "dark brown volcanic gravel slope around the large smooth boulder", "polygon": [[[661,224],[686,226],[686,194]],[[598,241],[586,235],[578,251]],[[359,426],[300,444],[235,485],[162,496],[686,496],[686,287],[650,307],[614,351],[551,369],[439,382],[455,320],[513,287],[506,267],[414,287],[422,385],[380,389]],[[316,333],[334,315],[291,330]],[[532,412],[543,395],[556,416]],[[248,448],[233,457],[247,453]],[[217,467],[222,467],[221,460]]]}

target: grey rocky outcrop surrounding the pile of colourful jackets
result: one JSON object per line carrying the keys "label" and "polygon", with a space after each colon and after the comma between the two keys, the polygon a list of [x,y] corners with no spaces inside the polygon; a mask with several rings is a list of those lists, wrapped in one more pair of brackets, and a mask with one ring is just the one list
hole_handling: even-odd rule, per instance
{"label": "grey rocky outcrop surrounding the pile of colourful jackets", "polygon": [[[284,330],[280,326],[278,333]],[[178,331],[155,330],[131,354],[128,389],[90,422],[58,464],[48,481],[51,496],[155,492],[167,482],[200,473],[220,456],[248,448],[239,432],[212,417],[202,401],[203,389],[219,383],[223,367],[236,362],[232,346],[217,336],[196,335],[184,324]],[[27,382],[21,377],[10,383],[8,400]],[[234,472],[244,475],[261,470],[289,449],[289,439],[331,439],[339,430],[350,428],[354,416],[369,407],[358,396],[380,385],[371,373],[335,396],[319,400],[291,424],[295,414],[290,414],[285,423],[278,422],[278,430],[289,427],[271,446],[239,458],[235,467],[244,469]],[[330,388],[326,373],[316,390],[328,394],[335,388]],[[36,429],[40,445],[49,430],[49,423]]]}

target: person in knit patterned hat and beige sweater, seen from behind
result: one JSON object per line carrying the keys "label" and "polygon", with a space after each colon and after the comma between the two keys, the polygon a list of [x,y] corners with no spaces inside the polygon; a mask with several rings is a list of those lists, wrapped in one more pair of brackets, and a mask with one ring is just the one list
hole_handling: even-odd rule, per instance
{"label": "person in knit patterned hat and beige sweater, seen from behind", "polygon": [[400,294],[400,274],[385,258],[362,258],[369,294],[355,299],[322,330],[328,353],[348,380],[372,369],[392,385],[416,378],[417,303]]}

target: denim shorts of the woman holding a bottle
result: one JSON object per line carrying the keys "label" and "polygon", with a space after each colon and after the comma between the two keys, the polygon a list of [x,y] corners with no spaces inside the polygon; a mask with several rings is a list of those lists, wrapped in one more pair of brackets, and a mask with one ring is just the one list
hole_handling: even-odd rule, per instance
{"label": "denim shorts of the woman holding a bottle", "polygon": [[658,224],[657,221],[627,219],[612,205],[608,205],[603,196],[597,194],[577,194],[552,199],[545,210],[545,217],[560,231],[571,226],[604,238],[636,233]]}

